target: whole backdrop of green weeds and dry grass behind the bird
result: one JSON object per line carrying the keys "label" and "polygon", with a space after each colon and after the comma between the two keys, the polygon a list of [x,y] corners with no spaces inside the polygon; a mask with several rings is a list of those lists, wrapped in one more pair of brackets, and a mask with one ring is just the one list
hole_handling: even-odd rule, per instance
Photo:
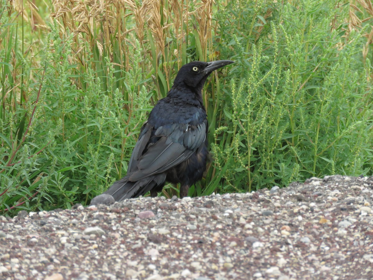
{"label": "whole backdrop of green weeds and dry grass behind the bird", "polygon": [[206,84],[213,161],[189,195],[372,175],[372,17],[370,0],[1,0],[0,214],[123,177],[192,60],[236,63]]}

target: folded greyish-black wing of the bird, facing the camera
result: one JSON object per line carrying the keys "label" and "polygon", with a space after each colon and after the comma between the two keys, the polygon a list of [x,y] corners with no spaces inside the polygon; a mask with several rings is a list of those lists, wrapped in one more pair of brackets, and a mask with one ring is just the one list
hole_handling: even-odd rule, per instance
{"label": "folded greyish-black wing of the bird, facing the camera", "polygon": [[[161,173],[188,159],[206,140],[207,120],[198,125],[170,124],[159,127],[154,136],[158,141],[147,146],[147,150],[136,160],[138,170],[129,180],[137,181],[144,177]],[[147,132],[139,141],[145,141]],[[138,150],[137,147],[139,146]],[[131,156],[131,168],[139,156],[143,143],[137,143]],[[144,150],[144,149],[142,149]]]}

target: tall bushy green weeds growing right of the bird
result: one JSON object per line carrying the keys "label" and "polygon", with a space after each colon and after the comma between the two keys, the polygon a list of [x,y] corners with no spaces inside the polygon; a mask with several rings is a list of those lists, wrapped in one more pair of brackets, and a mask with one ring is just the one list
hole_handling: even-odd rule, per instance
{"label": "tall bushy green weeds growing right of the bird", "polygon": [[[225,127],[213,143],[215,164],[225,170],[222,189],[372,173],[372,110],[364,101],[371,85],[359,60],[364,30],[351,32],[341,47],[342,23],[330,30],[329,22],[347,11],[329,13],[332,7],[328,1],[302,2],[299,9],[285,5],[239,63],[242,71],[225,99]],[[228,45],[242,59],[251,43],[232,37]],[[219,46],[232,52],[224,42]]]}

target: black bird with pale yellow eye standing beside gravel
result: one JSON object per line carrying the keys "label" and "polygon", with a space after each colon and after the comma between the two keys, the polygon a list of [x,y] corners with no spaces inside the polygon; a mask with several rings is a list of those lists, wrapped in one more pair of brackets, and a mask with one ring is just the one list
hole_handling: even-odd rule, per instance
{"label": "black bird with pale yellow eye standing beside gravel", "polygon": [[209,154],[202,88],[211,72],[231,63],[194,61],[180,68],[167,96],[158,101],[142,125],[127,175],[91,204],[100,203],[104,194],[115,201],[148,191],[154,197],[165,181],[181,183],[180,197],[188,195],[189,187],[201,180]]}

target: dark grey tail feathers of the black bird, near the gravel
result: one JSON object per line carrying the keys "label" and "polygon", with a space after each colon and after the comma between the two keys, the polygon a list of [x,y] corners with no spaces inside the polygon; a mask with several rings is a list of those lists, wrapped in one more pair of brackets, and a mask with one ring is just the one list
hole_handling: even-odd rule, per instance
{"label": "dark grey tail feathers of the black bird, near the gravel", "polygon": [[123,199],[145,195],[145,193],[153,189],[157,184],[157,180],[154,180],[156,179],[155,176],[142,178],[135,182],[129,181],[128,178],[129,176],[126,176],[114,182],[104,193],[111,195],[115,201],[121,201]]}

